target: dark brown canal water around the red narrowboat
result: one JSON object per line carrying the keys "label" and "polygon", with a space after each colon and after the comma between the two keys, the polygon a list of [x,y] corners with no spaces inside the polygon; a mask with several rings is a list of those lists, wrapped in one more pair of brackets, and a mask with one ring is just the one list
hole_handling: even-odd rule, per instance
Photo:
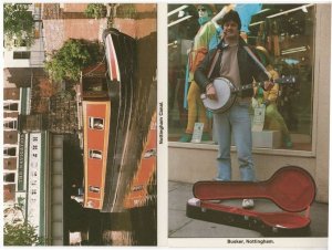
{"label": "dark brown canal water around the red narrowboat", "polygon": [[[152,33],[137,41],[136,46],[136,81],[133,84],[133,108],[131,110],[128,143],[122,164],[127,170],[122,179],[124,186],[131,186],[139,179],[142,158],[144,157],[152,119],[157,104],[157,37]],[[156,142],[155,142],[156,145]],[[116,212],[101,212],[83,208],[70,198],[76,187],[83,181],[83,155],[75,136],[68,136],[64,143],[64,229],[66,244],[69,233],[83,232],[85,239],[82,244],[87,246],[156,246],[157,244],[157,178],[156,155],[155,167],[151,168],[145,187],[135,186],[141,192],[138,202],[128,202],[124,209]],[[138,181],[138,180],[137,180]],[[123,200],[131,197],[132,188],[125,188],[118,194]],[[143,194],[143,195],[142,195]],[[136,197],[137,198],[137,197]],[[127,198],[128,199],[128,198]]]}

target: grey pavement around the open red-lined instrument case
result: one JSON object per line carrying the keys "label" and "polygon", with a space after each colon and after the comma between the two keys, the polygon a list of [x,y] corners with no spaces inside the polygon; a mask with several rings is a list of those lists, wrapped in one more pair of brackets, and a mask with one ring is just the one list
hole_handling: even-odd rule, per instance
{"label": "grey pavement around the open red-lined instrument case", "polygon": [[[186,217],[187,200],[193,198],[193,184],[168,181],[168,237],[169,238],[259,238],[263,237],[259,231],[239,227],[226,226],[216,222]],[[222,201],[222,204],[240,206],[241,200]],[[280,211],[269,200],[256,200],[255,210]],[[329,205],[313,202],[310,209],[310,236],[328,237]]]}

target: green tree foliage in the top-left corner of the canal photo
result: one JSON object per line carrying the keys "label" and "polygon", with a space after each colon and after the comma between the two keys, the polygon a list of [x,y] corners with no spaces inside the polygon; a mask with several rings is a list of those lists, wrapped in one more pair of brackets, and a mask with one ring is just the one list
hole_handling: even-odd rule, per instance
{"label": "green tree foliage in the top-left corner of the canal photo", "polygon": [[33,15],[28,3],[4,3],[3,33],[8,40],[17,40],[18,45],[30,46],[34,38]]}

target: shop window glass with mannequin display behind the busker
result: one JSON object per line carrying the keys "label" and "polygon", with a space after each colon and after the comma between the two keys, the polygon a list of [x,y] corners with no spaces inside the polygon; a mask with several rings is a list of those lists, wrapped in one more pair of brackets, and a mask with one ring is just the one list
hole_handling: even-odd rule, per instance
{"label": "shop window glass with mannequin display behind the busker", "polygon": [[[188,54],[199,31],[199,23],[195,6],[186,6],[168,17],[168,139],[190,143],[191,136],[184,138],[187,125],[189,121],[199,122],[203,113],[199,113],[199,95],[195,97],[195,112],[188,108],[188,90],[191,84],[190,75],[187,74]],[[217,10],[224,7],[215,6]],[[242,38],[258,50],[261,62],[269,71],[276,72],[276,77],[280,80],[273,101],[276,108],[267,105],[263,119],[259,119],[257,107],[263,103],[266,93],[256,90],[250,114],[253,125],[259,125],[259,121],[261,124],[258,132],[252,133],[253,147],[311,150],[314,4],[260,4],[258,9],[252,8],[252,4],[247,6],[250,8],[238,10],[242,28],[246,27]],[[168,4],[168,13],[181,7]],[[286,76],[294,81],[282,81]],[[278,119],[276,115],[271,116],[270,110],[280,114]],[[204,111],[207,122],[200,143],[216,144],[212,114]],[[197,128],[201,129],[199,126]]]}

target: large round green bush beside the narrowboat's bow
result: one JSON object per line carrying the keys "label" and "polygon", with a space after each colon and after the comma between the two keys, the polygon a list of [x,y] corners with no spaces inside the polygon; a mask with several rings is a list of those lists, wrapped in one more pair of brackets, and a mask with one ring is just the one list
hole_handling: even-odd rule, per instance
{"label": "large round green bush beside the narrowboat's bow", "polygon": [[80,80],[81,71],[98,62],[100,59],[98,43],[70,39],[45,63],[45,69],[50,72],[51,79],[56,82],[65,80],[76,82]]}

